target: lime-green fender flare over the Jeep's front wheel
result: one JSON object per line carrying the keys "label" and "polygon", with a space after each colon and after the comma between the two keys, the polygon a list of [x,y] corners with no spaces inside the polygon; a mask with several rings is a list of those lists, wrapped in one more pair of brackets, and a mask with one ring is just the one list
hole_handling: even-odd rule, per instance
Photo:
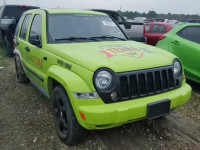
{"label": "lime-green fender flare over the Jeep's front wheel", "polygon": [[79,110],[78,110],[78,102],[75,101],[73,92],[77,93],[89,93],[91,92],[90,88],[88,87],[87,83],[77,74],[68,70],[66,68],[62,68],[60,66],[53,65],[51,66],[48,71],[48,82],[47,88],[49,97],[51,98],[51,94],[53,91],[53,86],[50,82],[51,79],[56,80],[59,82],[66,90],[71,105],[73,107],[74,113],[78,122],[83,126],[83,120],[80,117]]}

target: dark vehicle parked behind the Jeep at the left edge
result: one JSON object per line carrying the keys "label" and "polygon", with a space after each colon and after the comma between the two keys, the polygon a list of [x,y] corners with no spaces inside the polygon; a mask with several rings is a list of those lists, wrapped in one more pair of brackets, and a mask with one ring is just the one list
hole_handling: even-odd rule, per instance
{"label": "dark vehicle parked behind the Jeep at the left edge", "polygon": [[13,35],[16,25],[23,14],[29,9],[36,9],[35,6],[25,5],[3,5],[0,9],[0,35],[4,43],[6,55],[13,55]]}

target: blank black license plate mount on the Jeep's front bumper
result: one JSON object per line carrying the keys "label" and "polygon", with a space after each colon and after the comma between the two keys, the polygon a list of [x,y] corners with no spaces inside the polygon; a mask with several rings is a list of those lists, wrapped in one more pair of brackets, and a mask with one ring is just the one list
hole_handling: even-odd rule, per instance
{"label": "blank black license plate mount on the Jeep's front bumper", "polygon": [[152,120],[166,116],[170,112],[171,100],[165,99],[147,105],[147,119]]}

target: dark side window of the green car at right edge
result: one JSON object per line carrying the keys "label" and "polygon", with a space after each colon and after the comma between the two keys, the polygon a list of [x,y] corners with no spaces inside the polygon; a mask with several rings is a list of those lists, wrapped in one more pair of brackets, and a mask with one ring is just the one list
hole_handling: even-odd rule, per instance
{"label": "dark side window of the green car at right edge", "polygon": [[178,35],[184,39],[200,44],[200,27],[186,27],[179,31]]}

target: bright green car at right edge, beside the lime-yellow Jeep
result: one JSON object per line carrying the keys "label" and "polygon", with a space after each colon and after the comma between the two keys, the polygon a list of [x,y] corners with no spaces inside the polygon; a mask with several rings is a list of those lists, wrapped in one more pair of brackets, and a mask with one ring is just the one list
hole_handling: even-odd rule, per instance
{"label": "bright green car at right edge, beside the lime-yellow Jeep", "polygon": [[186,78],[200,83],[200,24],[182,24],[160,38],[156,45],[178,56]]}

